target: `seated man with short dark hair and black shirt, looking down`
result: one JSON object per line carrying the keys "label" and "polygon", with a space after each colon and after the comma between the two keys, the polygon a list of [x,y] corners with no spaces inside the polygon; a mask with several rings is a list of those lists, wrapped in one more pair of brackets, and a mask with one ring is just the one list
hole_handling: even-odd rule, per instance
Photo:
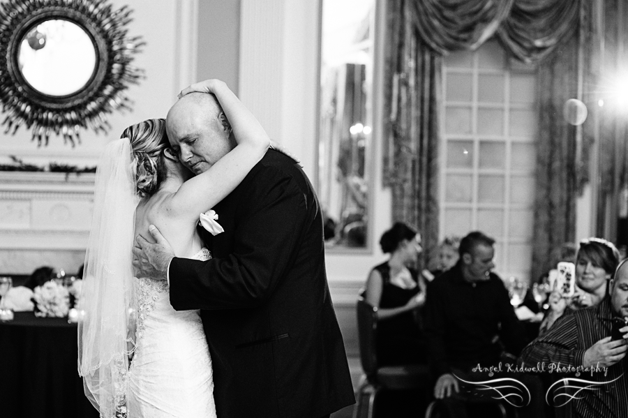
{"label": "seated man with short dark hair and black shirt, looking down", "polygon": [[[458,393],[458,378],[488,379],[486,375],[475,375],[473,369],[500,363],[502,347],[498,340],[515,355],[528,342],[504,283],[491,272],[495,267],[493,244],[495,240],[482,232],[471,232],[460,243],[458,263],[428,286],[424,325],[428,361],[438,378],[434,396],[443,399],[452,417],[467,416],[465,394]],[[503,377],[515,376],[507,373]],[[526,385],[532,399],[528,407],[521,408],[522,417],[543,415],[540,382],[535,382]]]}

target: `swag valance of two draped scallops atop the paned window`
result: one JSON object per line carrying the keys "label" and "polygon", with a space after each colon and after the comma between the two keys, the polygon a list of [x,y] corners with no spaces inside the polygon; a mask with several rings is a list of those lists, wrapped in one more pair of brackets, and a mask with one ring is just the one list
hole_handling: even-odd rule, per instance
{"label": "swag valance of two draped scallops atop the paned window", "polygon": [[475,50],[496,35],[521,61],[538,61],[578,27],[578,0],[414,0],[412,20],[441,55]]}

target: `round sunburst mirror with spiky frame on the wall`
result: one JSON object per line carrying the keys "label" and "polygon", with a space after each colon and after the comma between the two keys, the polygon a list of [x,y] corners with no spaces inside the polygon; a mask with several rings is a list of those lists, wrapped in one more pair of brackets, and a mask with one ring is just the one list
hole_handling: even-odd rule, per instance
{"label": "round sunburst mirror with spiky frame on the wall", "polygon": [[5,133],[20,126],[33,140],[80,142],[80,131],[107,132],[107,116],[130,109],[129,84],[144,45],[129,37],[131,10],[107,0],[8,0],[0,3],[0,102]]}

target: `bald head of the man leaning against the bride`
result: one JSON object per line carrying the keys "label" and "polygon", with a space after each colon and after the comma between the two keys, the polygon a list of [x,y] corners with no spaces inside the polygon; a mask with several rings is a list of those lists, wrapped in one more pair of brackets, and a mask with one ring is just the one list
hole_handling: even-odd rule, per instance
{"label": "bald head of the man leaning against the bride", "polygon": [[181,163],[195,174],[209,169],[235,146],[229,121],[213,94],[180,98],[168,112],[166,130]]}

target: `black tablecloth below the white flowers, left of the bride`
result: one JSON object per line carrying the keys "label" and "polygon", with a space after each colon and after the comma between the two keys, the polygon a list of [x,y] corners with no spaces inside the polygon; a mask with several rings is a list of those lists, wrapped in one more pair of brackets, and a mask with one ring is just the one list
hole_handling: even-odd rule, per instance
{"label": "black tablecloth below the white flowers, left of the bride", "polygon": [[0,417],[97,418],[77,373],[77,326],[15,313],[0,322]]}

